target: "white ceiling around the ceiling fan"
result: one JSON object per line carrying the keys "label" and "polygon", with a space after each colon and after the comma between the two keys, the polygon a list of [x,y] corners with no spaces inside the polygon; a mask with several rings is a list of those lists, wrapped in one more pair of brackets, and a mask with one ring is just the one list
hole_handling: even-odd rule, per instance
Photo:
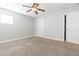
{"label": "white ceiling around the ceiling fan", "polygon": [[31,6],[32,3],[0,3],[1,8],[5,8],[23,15],[31,16],[31,17],[40,17],[42,15],[57,12],[62,9],[71,8],[76,6],[76,3],[40,3],[40,8],[45,9],[46,12],[40,12],[36,15],[32,11],[27,13],[26,11],[29,10],[27,7],[23,7],[22,5],[28,5]]}

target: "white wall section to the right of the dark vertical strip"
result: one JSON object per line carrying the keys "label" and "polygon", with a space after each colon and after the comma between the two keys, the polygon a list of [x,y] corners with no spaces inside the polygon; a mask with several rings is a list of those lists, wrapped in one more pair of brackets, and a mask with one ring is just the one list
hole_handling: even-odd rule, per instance
{"label": "white wall section to the right of the dark vertical strip", "polygon": [[67,13],[67,41],[79,44],[79,7]]}

